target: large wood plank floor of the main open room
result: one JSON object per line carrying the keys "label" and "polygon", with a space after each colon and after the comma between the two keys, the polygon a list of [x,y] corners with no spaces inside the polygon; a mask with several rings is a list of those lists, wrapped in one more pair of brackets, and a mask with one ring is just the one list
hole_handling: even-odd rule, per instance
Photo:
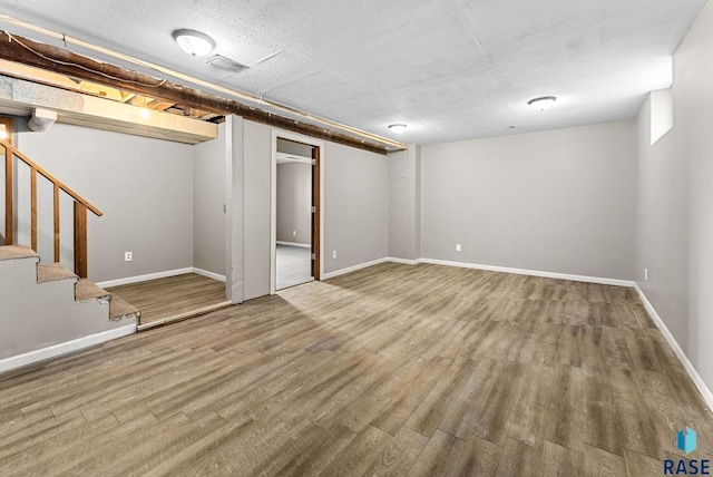
{"label": "large wood plank floor of the main open room", "polygon": [[713,418],[631,289],[381,264],[0,374],[0,475],[648,476]]}

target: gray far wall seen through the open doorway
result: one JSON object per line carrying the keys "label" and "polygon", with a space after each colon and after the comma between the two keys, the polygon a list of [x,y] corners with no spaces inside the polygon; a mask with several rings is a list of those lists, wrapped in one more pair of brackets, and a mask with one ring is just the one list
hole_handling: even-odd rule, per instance
{"label": "gray far wall seen through the open doorway", "polygon": [[277,164],[277,241],[312,243],[311,207],[312,166]]}

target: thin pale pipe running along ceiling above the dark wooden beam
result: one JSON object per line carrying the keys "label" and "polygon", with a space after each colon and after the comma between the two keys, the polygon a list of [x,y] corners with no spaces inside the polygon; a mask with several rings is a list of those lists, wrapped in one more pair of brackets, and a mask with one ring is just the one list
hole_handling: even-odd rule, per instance
{"label": "thin pale pipe running along ceiling above the dark wooden beam", "polygon": [[315,121],[315,123],[322,124],[322,125],[331,127],[331,128],[340,129],[340,130],[346,132],[349,134],[362,137],[364,139],[369,139],[369,140],[373,140],[373,142],[383,144],[387,147],[390,147],[390,148],[393,148],[393,149],[397,149],[397,150],[406,150],[407,149],[407,145],[403,144],[403,143],[399,143],[398,140],[389,139],[387,137],[382,137],[382,136],[379,136],[379,135],[375,135],[375,134],[372,134],[372,133],[368,133],[365,130],[361,130],[361,129],[358,129],[358,128],[354,128],[354,127],[338,123],[338,121],[332,120],[332,119],[328,119],[328,118],[323,118],[323,117],[320,117],[320,116],[315,116],[315,115],[312,115],[311,113],[302,111],[300,109],[291,108],[289,106],[284,106],[284,105],[281,105],[281,104],[277,104],[277,103],[268,101],[268,100],[258,98],[256,96],[252,96],[252,95],[247,95],[245,93],[237,91],[235,89],[231,89],[231,88],[226,88],[224,86],[215,85],[215,84],[213,84],[211,81],[206,81],[206,80],[193,77],[191,75],[185,75],[183,72],[173,70],[170,68],[165,68],[163,66],[159,66],[159,65],[156,65],[156,64],[153,64],[153,62],[149,62],[149,61],[144,61],[141,59],[131,57],[129,55],[125,55],[125,53],[121,53],[121,52],[118,52],[118,51],[114,51],[114,50],[110,50],[108,48],[100,47],[98,45],[94,45],[94,43],[90,43],[88,41],[81,40],[79,38],[70,37],[68,35],[60,33],[58,31],[50,30],[50,29],[45,28],[45,27],[39,27],[39,26],[33,25],[33,23],[16,19],[13,17],[9,17],[7,14],[0,14],[0,21],[7,22],[7,23],[10,23],[10,25],[14,25],[17,27],[25,28],[27,30],[31,30],[31,31],[45,35],[47,37],[53,38],[53,39],[59,40],[59,41],[64,41],[66,45],[75,45],[75,46],[78,46],[78,47],[81,47],[81,48],[86,48],[88,50],[96,51],[98,53],[106,55],[106,56],[109,56],[111,58],[116,58],[116,59],[119,59],[119,60],[123,60],[123,61],[128,61],[130,64],[134,64],[134,65],[137,65],[137,66],[141,66],[144,68],[153,69],[154,71],[158,71],[158,72],[162,72],[164,75],[169,75],[169,76],[173,76],[174,78],[178,78],[178,79],[184,80],[184,81],[193,82],[194,85],[198,85],[198,86],[202,86],[204,88],[208,88],[208,89],[212,89],[212,90],[215,90],[215,91],[219,91],[222,94],[225,94],[225,95],[228,95],[228,96],[233,96],[233,97],[243,99],[245,101],[250,101],[250,103],[253,103],[253,104],[256,104],[256,105],[261,105],[261,106],[265,106],[265,107],[268,107],[268,108],[272,108],[272,109],[276,109],[279,111],[282,111],[282,113],[285,113],[285,114],[289,114],[289,115],[292,115],[292,116],[297,116],[297,117],[306,119],[306,120]]}

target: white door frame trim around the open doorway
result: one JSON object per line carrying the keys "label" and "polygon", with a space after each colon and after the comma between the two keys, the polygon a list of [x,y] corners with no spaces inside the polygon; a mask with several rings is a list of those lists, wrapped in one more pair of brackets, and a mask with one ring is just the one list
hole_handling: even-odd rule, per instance
{"label": "white door frame trim around the open doorway", "polygon": [[316,249],[318,251],[318,262],[319,262],[319,276],[315,276],[315,280],[320,280],[321,276],[324,276],[324,140],[315,139],[310,136],[304,136],[296,133],[290,133],[287,130],[272,128],[272,172],[271,172],[271,218],[270,218],[270,294],[275,294],[276,283],[277,283],[277,138],[281,137],[283,139],[294,140],[296,143],[304,143],[310,146],[319,148],[319,204],[316,204],[316,211],[319,220],[319,243],[316,247],[314,243],[312,244],[312,249]]}

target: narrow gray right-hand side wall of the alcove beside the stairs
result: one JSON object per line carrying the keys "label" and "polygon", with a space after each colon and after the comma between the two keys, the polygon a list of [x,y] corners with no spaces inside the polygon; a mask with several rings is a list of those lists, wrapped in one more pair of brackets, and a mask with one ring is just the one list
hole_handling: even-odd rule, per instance
{"label": "narrow gray right-hand side wall of the alcove beside the stairs", "polygon": [[194,146],[193,266],[225,275],[225,123],[218,138]]}

